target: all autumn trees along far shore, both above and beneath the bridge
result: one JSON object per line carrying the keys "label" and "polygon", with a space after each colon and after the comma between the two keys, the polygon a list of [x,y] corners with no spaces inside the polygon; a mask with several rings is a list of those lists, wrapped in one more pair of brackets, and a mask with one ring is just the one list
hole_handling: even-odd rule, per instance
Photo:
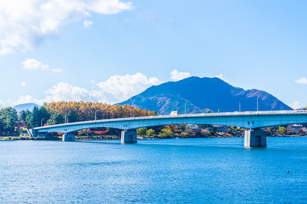
{"label": "all autumn trees along far shore, both above and beneath the bridge", "polygon": [[[107,105],[91,102],[52,102],[41,107],[34,106],[20,113],[12,107],[0,109],[0,136],[15,136],[19,139],[27,137],[26,129],[55,125],[65,122],[78,122],[122,117],[138,117],[158,115],[155,111],[135,108],[130,105]],[[166,125],[152,128],[140,128],[138,136],[172,138],[172,137],[210,137],[210,136],[242,136],[244,129],[227,127],[221,134],[217,128],[198,124],[198,129],[191,129],[187,124]],[[211,127],[208,131],[208,127]],[[266,128],[267,135],[285,135],[288,127]],[[75,133],[79,138],[102,138],[102,136],[120,136],[121,130],[111,128],[96,128]],[[52,133],[54,137],[62,133]]]}

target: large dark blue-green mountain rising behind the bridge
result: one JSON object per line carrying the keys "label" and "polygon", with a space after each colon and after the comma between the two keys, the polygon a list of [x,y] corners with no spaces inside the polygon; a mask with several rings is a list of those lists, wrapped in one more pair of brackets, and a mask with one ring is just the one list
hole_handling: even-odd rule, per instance
{"label": "large dark blue-green mountain rising behind the bridge", "polygon": [[219,78],[189,77],[152,86],[119,105],[132,105],[159,114],[293,110],[273,95],[256,89],[243,90]]}

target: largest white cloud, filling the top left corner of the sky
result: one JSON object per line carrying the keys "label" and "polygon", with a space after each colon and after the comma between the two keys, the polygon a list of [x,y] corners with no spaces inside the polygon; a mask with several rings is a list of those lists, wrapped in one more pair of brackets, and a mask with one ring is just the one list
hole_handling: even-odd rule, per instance
{"label": "largest white cloud, filling the top left corner of the sky", "polygon": [[32,50],[65,24],[91,17],[90,12],[116,14],[133,9],[119,0],[2,0],[0,55]]}

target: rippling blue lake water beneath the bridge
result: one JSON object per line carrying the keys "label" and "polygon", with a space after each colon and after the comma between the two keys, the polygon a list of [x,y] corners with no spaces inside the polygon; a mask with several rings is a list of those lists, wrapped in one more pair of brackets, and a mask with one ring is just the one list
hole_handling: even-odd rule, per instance
{"label": "rippling blue lake water beneath the bridge", "polygon": [[243,137],[0,141],[0,203],[307,203],[307,137],[243,145]]}

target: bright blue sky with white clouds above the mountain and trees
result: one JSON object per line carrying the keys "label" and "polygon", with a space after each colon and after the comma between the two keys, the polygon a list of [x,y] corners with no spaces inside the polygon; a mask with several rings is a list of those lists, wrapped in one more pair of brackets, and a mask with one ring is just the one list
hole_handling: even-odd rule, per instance
{"label": "bright blue sky with white clouds above the mountain and trees", "polygon": [[190,76],[306,107],[306,10],[306,0],[0,0],[0,108],[114,104]]}

